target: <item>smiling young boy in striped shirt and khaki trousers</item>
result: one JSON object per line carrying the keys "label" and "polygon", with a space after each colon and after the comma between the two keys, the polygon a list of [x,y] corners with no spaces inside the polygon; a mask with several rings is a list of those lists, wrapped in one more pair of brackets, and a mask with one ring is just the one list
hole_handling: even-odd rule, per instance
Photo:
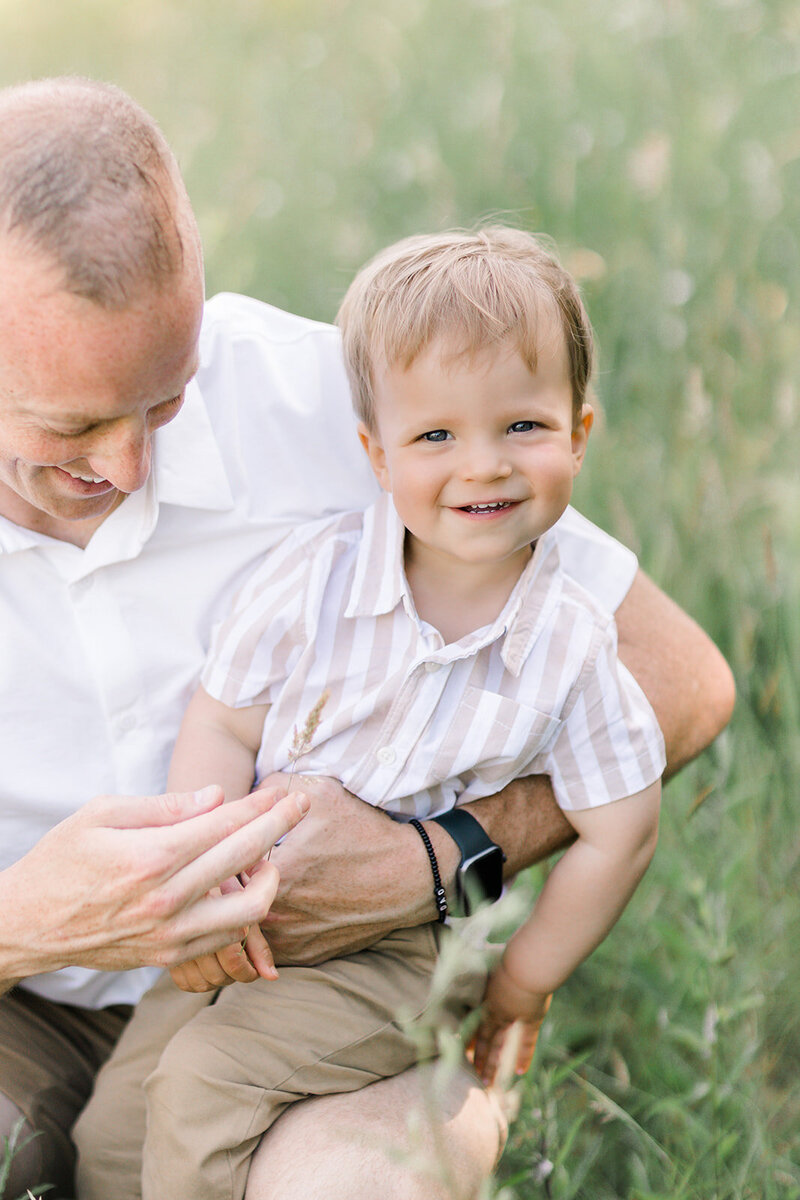
{"label": "smiling young boy in striped shirt and khaki trousers", "polygon": [[[551,994],[606,936],[656,841],[660,731],[616,661],[612,618],[561,571],[552,532],[591,428],[591,330],[569,275],[500,228],[390,247],[338,323],[384,493],[365,514],[297,530],[246,586],[169,787],[216,782],[233,798],[285,770],[325,694],[299,769],[399,820],[549,774],[577,841],[486,988],[475,1064],[491,1080],[517,1020],[528,1066]],[[396,1012],[426,1006],[435,930],[277,979],[251,931],[263,978],[221,992],[148,1080],[145,1200],[242,1195],[249,1154],[287,1104],[409,1066]],[[209,960],[174,977],[187,990],[213,980]]]}

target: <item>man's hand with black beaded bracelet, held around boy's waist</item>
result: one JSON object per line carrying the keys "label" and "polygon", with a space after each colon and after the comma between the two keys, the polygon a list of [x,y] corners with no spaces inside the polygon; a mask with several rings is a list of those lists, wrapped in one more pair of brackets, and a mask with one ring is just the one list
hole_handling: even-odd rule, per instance
{"label": "man's hand with black beaded bracelet, held around boy's waist", "polygon": [[[263,786],[288,782],[278,774]],[[351,954],[395,929],[435,920],[431,866],[415,829],[350,796],[335,779],[302,776],[297,785],[312,799],[311,812],[272,851],[281,883],[263,922],[278,966]],[[437,853],[447,880],[458,853],[440,833]]]}

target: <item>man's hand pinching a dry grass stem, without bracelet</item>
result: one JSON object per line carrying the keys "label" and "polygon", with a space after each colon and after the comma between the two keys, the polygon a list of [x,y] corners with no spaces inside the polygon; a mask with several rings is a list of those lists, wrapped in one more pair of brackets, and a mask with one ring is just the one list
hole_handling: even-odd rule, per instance
{"label": "man's hand pinching a dry grass stem, without bracelet", "polygon": [[248,870],[308,809],[301,792],[222,803],[218,787],[100,797],[0,874],[0,990],[74,964],[172,967],[241,942],[266,916],[277,870],[209,895]]}

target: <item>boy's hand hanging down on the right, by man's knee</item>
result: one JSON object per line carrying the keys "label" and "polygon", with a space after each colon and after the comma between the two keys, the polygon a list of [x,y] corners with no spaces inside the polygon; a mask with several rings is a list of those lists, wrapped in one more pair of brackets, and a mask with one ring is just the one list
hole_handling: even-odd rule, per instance
{"label": "boy's hand hanging down on the right, by man's knee", "polygon": [[[534,1058],[536,1040],[542,1021],[551,1007],[551,995],[528,991],[509,974],[503,961],[489,977],[483,997],[481,1024],[470,1046],[475,1070],[483,1084],[491,1087],[503,1066],[517,1075],[524,1075]],[[503,1049],[509,1043],[513,1056],[504,1063]]]}

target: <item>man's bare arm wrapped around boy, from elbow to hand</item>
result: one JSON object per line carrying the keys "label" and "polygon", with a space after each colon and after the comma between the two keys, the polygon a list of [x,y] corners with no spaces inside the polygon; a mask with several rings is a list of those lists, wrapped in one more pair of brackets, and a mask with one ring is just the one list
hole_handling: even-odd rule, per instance
{"label": "man's bare arm wrapped around boy, from elbow to hand", "polygon": [[[669,778],[730,719],[730,670],[699,625],[642,571],[616,612],[616,625],[620,660],[661,725]],[[281,886],[266,928],[278,965],[347,954],[393,929],[435,919],[431,868],[414,828],[348,796],[335,780],[303,780],[303,790],[313,798],[312,810],[272,854]],[[546,776],[517,780],[465,808],[503,846],[506,876],[575,836]],[[456,844],[435,822],[425,827],[452,894]]]}

